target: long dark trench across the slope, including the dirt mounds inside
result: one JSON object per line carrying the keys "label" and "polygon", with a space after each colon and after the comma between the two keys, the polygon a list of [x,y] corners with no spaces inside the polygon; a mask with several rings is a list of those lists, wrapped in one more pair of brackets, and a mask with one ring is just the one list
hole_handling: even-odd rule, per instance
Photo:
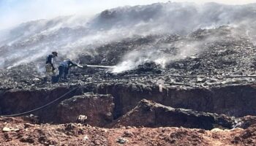
{"label": "long dark trench across the slope, including the dirt mounds inside", "polygon": [[[50,101],[58,99],[76,87],[64,86],[54,88],[53,90],[1,91],[1,115],[11,115],[34,110],[48,104]],[[176,124],[169,124],[167,121],[170,119],[159,116],[158,120],[147,124],[146,118],[140,119],[142,116],[135,115],[137,119],[129,118],[129,122],[125,126],[183,126],[187,128],[205,129],[216,127],[233,128],[238,125],[238,120],[241,117],[256,115],[256,107],[253,106],[256,104],[255,93],[255,85],[227,85],[207,89],[165,86],[162,92],[160,92],[159,86],[157,85],[149,86],[131,82],[101,83],[98,85],[78,86],[78,88],[54,104],[50,104],[48,107],[32,113],[38,116],[39,123],[74,123],[78,122],[77,117],[79,115],[86,115],[88,119],[85,123],[91,126],[115,127],[118,126],[115,123],[118,123],[118,120],[122,116],[134,110],[136,106],[138,107],[141,100],[147,99],[168,108],[192,110],[192,113],[196,116],[191,118],[191,112],[186,112],[184,115],[175,113],[172,115],[172,120]],[[157,111],[157,115],[169,114],[165,113],[166,110]],[[198,112],[203,112],[203,115],[198,115]],[[222,123],[218,125],[216,123],[217,121],[213,120],[216,117],[212,117],[207,112],[216,113],[215,115],[217,117],[225,114],[228,117],[227,119],[229,119],[225,122],[228,123],[228,126],[223,126],[222,122],[218,122]],[[211,117],[209,118],[211,120],[203,120],[205,118],[202,118],[202,116],[205,118]],[[145,124],[132,124],[138,118],[145,120]],[[186,122],[184,122],[184,119]],[[162,120],[162,123],[156,122],[159,120]],[[202,122],[209,126],[200,126]]]}

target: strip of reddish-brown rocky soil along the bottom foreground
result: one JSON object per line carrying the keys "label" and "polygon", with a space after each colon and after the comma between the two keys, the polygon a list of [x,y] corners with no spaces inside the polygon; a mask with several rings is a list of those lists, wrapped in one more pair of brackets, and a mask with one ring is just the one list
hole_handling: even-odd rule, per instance
{"label": "strip of reddish-brown rocky soil along the bottom foreground", "polygon": [[34,124],[0,118],[0,145],[255,145],[255,125],[211,131],[183,127],[98,128],[80,123]]}

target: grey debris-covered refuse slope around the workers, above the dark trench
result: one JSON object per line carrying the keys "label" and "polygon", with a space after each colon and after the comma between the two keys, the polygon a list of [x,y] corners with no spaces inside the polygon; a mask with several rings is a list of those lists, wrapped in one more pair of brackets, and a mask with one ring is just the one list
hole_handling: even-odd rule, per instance
{"label": "grey debris-covered refuse slope around the workers, above the dark trench", "polygon": [[[91,67],[72,69],[69,83],[121,80],[138,74],[155,75],[134,77],[145,84],[155,84],[161,78],[168,83],[204,87],[253,83],[256,50],[252,41],[244,30],[227,26],[199,29],[186,36],[132,37],[97,47],[95,54],[81,53],[79,60],[75,60],[80,64],[116,65],[116,72]],[[145,51],[148,54],[141,58]],[[162,60],[153,54],[162,56]],[[1,91],[58,86],[50,84],[43,69],[44,61],[39,61],[1,70]]]}

